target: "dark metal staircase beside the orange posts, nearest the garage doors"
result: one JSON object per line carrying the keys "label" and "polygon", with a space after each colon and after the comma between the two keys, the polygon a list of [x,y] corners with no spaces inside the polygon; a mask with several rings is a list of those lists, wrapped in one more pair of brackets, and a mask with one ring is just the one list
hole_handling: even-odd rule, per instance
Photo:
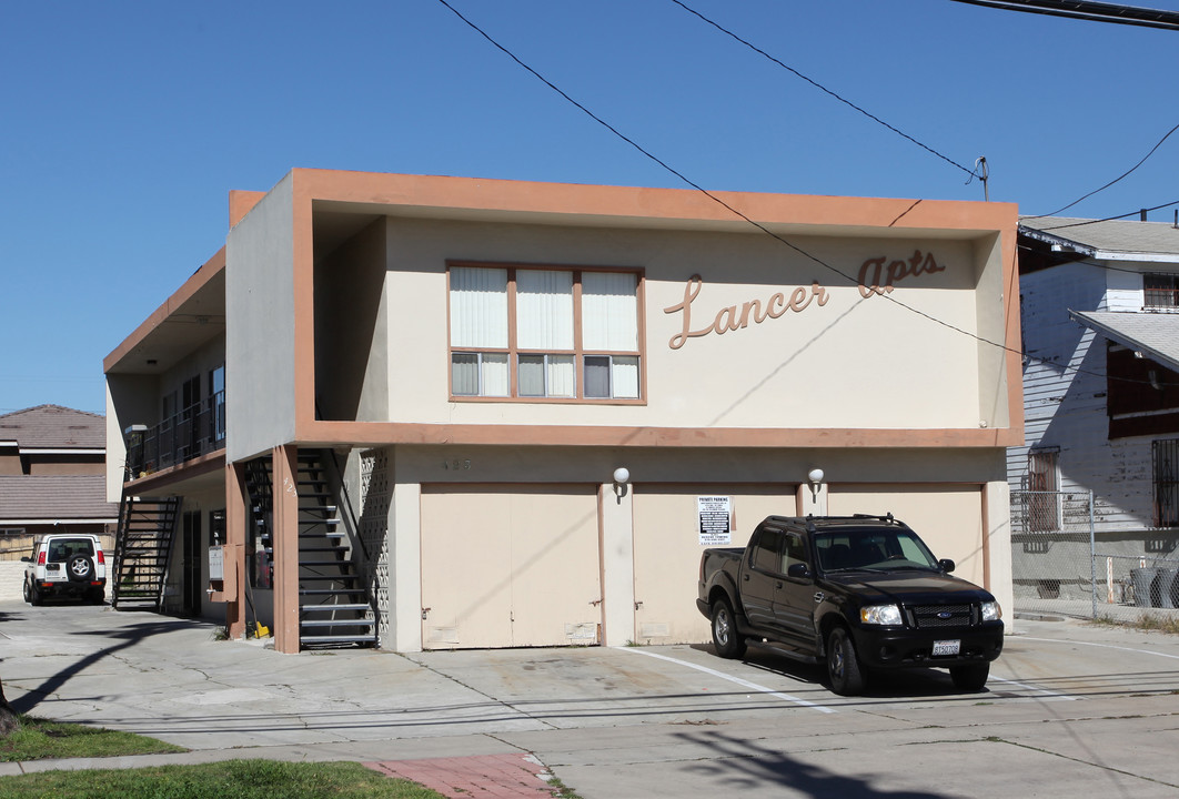
{"label": "dark metal staircase beside the orange posts, nearest the garage doors", "polygon": [[[299,648],[375,646],[376,616],[341,529],[323,458],[320,450],[299,450],[297,458]],[[248,464],[245,483],[258,537],[272,555],[270,460]]]}

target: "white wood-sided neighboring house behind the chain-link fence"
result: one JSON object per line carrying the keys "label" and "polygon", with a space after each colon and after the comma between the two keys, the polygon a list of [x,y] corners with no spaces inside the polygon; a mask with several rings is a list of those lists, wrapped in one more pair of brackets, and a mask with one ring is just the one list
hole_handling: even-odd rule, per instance
{"label": "white wood-sided neighboring house behind the chain-link fence", "polygon": [[[1099,583],[1109,560],[1121,594],[1131,568],[1179,557],[1179,226],[1027,217],[1019,243],[1026,444],[1008,450],[1008,477],[1062,495],[1025,495],[1016,533],[1087,533],[1088,502],[1065,494],[1092,490],[1098,553],[1114,556]],[[1016,595],[1067,593],[1062,548],[1047,548],[1021,557],[1016,539]]]}

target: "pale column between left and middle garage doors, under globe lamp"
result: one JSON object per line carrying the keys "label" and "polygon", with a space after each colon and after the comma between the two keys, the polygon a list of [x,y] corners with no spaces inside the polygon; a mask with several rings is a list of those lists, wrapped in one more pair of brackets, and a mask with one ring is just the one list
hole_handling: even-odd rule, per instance
{"label": "pale column between left and middle garage doors, under globe lamp", "polygon": [[601,643],[626,646],[634,629],[634,514],[631,486],[604,483],[598,490],[601,526]]}

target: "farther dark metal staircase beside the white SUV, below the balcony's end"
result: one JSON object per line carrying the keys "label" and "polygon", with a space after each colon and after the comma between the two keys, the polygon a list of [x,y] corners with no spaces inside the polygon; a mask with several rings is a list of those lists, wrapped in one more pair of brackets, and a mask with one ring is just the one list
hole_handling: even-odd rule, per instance
{"label": "farther dark metal staircase beside the white SUV, below the balcony's end", "polygon": [[163,609],[179,507],[179,497],[140,497],[124,491],[114,534],[111,607]]}

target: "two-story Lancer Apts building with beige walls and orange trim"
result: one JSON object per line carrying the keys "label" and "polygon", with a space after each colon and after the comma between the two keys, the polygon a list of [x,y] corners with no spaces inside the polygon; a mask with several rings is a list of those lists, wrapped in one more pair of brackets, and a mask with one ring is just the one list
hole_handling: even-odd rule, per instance
{"label": "two-story Lancer Apts building with beige walls and orange trim", "polygon": [[1009,600],[1012,205],[295,170],[230,225],[105,362],[112,449],[211,411],[110,470],[179,497],[165,607],[286,652],[705,641],[705,546],[889,511]]}

